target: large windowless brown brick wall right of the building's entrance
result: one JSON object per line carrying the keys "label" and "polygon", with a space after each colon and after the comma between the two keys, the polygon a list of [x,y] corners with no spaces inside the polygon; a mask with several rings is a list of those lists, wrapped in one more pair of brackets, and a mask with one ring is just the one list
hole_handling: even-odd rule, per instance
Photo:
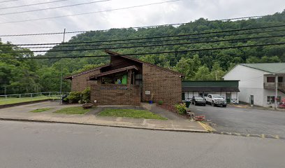
{"label": "large windowless brown brick wall right of the building's entrance", "polygon": [[151,95],[145,94],[145,91],[153,94],[154,102],[162,100],[165,104],[177,104],[182,102],[182,79],[178,74],[143,64],[142,101],[148,102]]}

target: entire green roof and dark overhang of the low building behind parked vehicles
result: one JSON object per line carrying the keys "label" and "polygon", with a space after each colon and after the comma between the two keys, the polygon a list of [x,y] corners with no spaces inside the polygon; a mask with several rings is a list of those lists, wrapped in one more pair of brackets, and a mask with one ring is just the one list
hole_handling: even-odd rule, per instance
{"label": "entire green roof and dark overhang of the low building behind parked vehicles", "polygon": [[240,80],[184,80],[182,91],[184,92],[240,92],[238,82]]}

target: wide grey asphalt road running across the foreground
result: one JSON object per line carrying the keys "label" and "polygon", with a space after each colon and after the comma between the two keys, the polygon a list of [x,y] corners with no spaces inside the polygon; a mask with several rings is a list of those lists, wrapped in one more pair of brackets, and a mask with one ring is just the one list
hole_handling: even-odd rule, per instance
{"label": "wide grey asphalt road running across the foreground", "polygon": [[284,167],[285,141],[0,120],[0,167]]}

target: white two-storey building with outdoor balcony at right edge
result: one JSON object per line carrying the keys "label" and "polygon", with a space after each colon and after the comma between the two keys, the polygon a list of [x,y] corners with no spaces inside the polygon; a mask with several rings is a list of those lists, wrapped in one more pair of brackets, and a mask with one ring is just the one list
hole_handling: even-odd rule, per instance
{"label": "white two-storey building with outdoor balcony at right edge", "polygon": [[285,63],[238,64],[223,77],[240,80],[240,102],[257,106],[273,106],[275,78],[278,80],[277,102],[285,97]]}

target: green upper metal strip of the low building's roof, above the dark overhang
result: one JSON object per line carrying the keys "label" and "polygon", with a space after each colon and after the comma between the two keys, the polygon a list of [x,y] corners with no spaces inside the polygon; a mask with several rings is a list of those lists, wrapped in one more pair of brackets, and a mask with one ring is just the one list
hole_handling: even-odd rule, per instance
{"label": "green upper metal strip of the low building's roof, above the dark overhang", "polygon": [[184,80],[182,81],[182,87],[238,87],[239,81],[240,80]]}

